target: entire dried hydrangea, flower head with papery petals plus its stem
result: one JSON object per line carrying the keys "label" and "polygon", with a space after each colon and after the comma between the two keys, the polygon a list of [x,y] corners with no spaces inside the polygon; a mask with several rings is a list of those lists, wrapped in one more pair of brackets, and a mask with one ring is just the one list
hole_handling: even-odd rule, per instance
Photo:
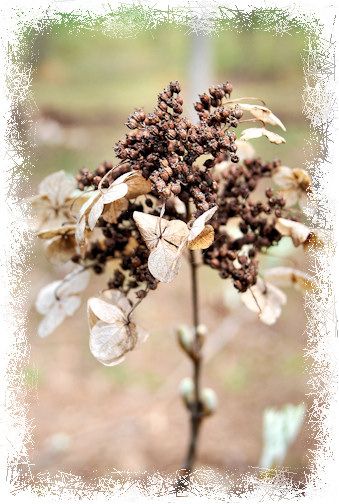
{"label": "entire dried hydrangea, flower head with papery petals plus its stem", "polygon": [[[193,368],[180,386],[191,436],[180,483],[196,460],[201,423],[217,404],[213,390],[200,383],[207,336],[199,316],[200,266],[233,282],[244,304],[273,324],[287,302],[280,287],[310,290],[314,282],[284,266],[259,273],[261,254],[283,237],[296,247],[321,245],[317,233],[299,222],[312,190],[307,172],[263,162],[248,143],[262,136],[284,143],[267,127],[285,126],[266,106],[252,103],[260,100],[231,99],[231,93],[230,82],[210,87],[195,103],[199,121],[192,123],[183,115],[179,83],[171,82],[153,113],[138,109],[129,116],[129,131],[115,145],[116,163],[82,169],[75,178],[52,174],[32,198],[48,257],[74,265],[64,280],[40,292],[39,334],[47,336],[73,315],[90,271],[110,271],[103,291],[87,303],[90,350],[104,365],[122,362],[145,341],[132,312],[188,260],[193,324],[178,329],[178,340]],[[257,127],[243,130],[238,140],[234,130],[246,122]],[[256,189],[264,179],[270,188],[262,196]]]}

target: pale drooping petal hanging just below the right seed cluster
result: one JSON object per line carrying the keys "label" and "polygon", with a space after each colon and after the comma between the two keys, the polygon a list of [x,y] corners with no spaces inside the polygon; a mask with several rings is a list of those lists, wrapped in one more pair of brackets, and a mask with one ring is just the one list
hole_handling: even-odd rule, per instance
{"label": "pale drooping petal hanging just below the right seed cluster", "polygon": [[272,325],[277,321],[282,305],[287,301],[284,292],[260,277],[257,283],[241,293],[240,297],[245,306],[257,313],[259,319],[267,325]]}

